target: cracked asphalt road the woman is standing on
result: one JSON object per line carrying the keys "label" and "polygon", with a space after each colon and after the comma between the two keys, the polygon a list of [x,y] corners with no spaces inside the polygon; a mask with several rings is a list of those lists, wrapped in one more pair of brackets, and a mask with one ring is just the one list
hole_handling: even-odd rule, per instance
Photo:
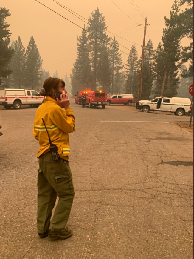
{"label": "cracked asphalt road the woman is standing on", "polygon": [[37,109],[0,110],[0,258],[193,258],[193,135],[171,124],[189,117],[71,106],[74,235],[57,242],[36,229]]}

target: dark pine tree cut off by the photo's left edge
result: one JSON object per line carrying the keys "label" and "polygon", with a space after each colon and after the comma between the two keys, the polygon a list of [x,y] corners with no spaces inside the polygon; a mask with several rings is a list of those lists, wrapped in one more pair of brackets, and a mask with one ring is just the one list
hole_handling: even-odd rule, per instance
{"label": "dark pine tree cut off by the photo's left edge", "polygon": [[0,7],[0,85],[1,78],[6,78],[13,71],[8,67],[14,55],[14,50],[10,44],[10,26],[5,19],[10,16],[9,9]]}

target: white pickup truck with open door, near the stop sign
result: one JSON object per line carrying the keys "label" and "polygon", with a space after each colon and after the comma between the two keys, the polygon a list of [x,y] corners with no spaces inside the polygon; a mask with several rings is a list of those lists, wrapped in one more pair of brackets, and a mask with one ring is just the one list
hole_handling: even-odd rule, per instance
{"label": "white pickup truck with open door, near the stop sign", "polygon": [[156,97],[153,100],[141,100],[136,103],[136,109],[143,112],[167,111],[175,115],[183,116],[191,112],[191,101],[182,97]]}

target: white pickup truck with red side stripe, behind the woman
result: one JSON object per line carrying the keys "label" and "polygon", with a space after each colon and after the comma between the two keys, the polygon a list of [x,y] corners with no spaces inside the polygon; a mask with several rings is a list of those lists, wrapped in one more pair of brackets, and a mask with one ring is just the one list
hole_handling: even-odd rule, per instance
{"label": "white pickup truck with red side stripe, behind the woman", "polygon": [[21,105],[30,105],[38,107],[42,104],[44,96],[41,96],[35,90],[31,89],[0,89],[0,105],[5,109],[20,109]]}

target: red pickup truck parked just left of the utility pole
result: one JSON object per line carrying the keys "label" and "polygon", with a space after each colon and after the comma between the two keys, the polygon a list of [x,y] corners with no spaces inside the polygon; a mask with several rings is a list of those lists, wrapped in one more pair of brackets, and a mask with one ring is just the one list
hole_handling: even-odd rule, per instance
{"label": "red pickup truck parked just left of the utility pole", "polygon": [[107,97],[107,105],[110,104],[124,104],[129,105],[134,102],[134,97],[132,94],[113,94]]}

